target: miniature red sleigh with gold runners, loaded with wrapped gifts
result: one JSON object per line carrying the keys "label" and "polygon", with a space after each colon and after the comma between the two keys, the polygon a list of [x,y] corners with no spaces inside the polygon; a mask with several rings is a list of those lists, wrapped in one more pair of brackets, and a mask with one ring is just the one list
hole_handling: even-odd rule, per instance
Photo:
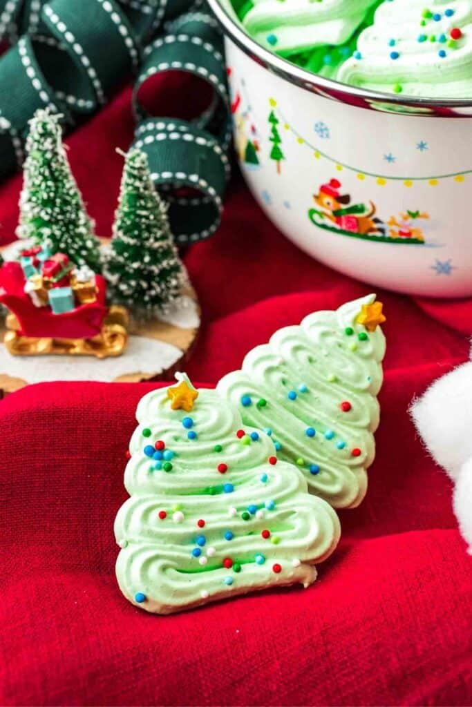
{"label": "miniature red sleigh with gold runners, loaded with wrapped gifts", "polygon": [[0,268],[0,303],[10,310],[4,339],[8,351],[119,356],[127,344],[127,310],[105,305],[103,277],[75,269],[66,255],[34,250],[23,251],[21,262]]}

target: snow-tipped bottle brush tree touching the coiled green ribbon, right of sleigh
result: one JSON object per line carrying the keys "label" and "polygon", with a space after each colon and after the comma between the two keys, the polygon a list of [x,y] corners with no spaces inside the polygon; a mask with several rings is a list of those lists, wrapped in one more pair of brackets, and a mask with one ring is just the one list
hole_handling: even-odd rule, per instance
{"label": "snow-tipped bottle brush tree touching the coiled green ribbon, right of sleigh", "polygon": [[173,244],[167,206],[154,188],[147,156],[125,156],[106,272],[115,300],[141,312],[165,308],[180,294],[185,269]]}

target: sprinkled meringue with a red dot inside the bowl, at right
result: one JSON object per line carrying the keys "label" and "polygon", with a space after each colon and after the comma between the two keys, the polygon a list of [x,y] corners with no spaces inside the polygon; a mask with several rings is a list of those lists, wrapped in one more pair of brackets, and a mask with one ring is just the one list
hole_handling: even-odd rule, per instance
{"label": "sprinkled meringue with a red dot inside the bowl, at right", "polygon": [[470,98],[472,0],[384,1],[338,81],[424,98]]}

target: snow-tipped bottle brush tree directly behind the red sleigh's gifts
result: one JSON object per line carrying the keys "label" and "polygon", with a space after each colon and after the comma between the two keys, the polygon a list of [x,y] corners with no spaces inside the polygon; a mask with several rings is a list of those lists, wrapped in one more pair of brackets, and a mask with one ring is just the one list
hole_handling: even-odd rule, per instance
{"label": "snow-tipped bottle brush tree directly behind the red sleigh's gifts", "polygon": [[30,120],[23,167],[18,236],[52,252],[68,255],[76,265],[100,270],[98,239],[62,144],[59,116],[37,110]]}

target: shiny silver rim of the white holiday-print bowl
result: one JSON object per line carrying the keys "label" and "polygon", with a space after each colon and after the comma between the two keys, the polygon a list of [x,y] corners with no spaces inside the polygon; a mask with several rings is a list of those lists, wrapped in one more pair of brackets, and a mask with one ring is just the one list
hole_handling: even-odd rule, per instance
{"label": "shiny silver rim of the white holiday-print bowl", "polygon": [[[311,71],[301,69],[300,66],[292,64],[288,59],[283,59],[277,54],[273,54],[255,42],[221,5],[220,0],[207,0],[217,21],[224,30],[224,33],[242,49],[251,59],[272,71],[277,76],[281,76],[286,81],[294,83],[311,93],[325,95],[327,98],[339,100],[342,103],[356,105],[358,107],[370,108],[374,110],[384,110],[385,112],[399,115],[422,115],[423,117],[471,117],[472,98],[420,98],[418,96],[406,96],[392,93],[381,93],[364,88],[349,86],[347,83],[333,81],[330,78],[323,78]],[[379,104],[384,104],[379,105]],[[386,107],[388,106],[388,107]],[[469,108],[470,112],[454,112],[455,108]],[[405,110],[406,109],[406,110]],[[416,110],[415,110],[416,109]]]}

